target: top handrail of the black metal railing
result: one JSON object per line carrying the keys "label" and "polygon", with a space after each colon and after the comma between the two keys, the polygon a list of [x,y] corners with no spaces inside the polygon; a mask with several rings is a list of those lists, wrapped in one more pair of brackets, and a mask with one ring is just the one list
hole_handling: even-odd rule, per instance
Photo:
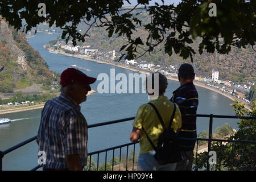
{"label": "top handrail of the black metal railing", "polygon": [[[230,119],[256,119],[256,117],[239,117],[239,116],[233,116],[233,115],[213,115],[213,114],[197,114],[197,117],[205,117],[205,118],[230,118]],[[121,122],[125,122],[125,121],[130,121],[132,119],[134,119],[135,117],[130,117],[130,118],[124,118],[124,119],[117,119],[114,121],[108,121],[108,122],[102,122],[102,123],[96,123],[93,125],[89,125],[88,128],[92,128],[92,127],[98,127],[98,126],[104,126],[104,125],[111,125],[114,123],[121,123]],[[3,154],[8,154],[11,151],[14,151],[15,149],[24,146],[27,143],[30,143],[32,141],[34,141],[36,139],[37,136],[32,137],[30,139],[27,139],[21,143],[16,144],[13,147],[8,148],[7,150],[3,151]]]}

